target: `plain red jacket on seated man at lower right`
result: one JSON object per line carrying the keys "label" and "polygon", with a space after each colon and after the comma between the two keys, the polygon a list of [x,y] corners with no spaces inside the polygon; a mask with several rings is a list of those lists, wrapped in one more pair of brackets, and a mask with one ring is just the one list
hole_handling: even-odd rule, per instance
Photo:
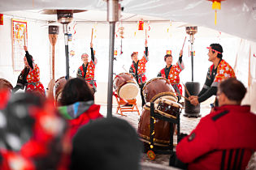
{"label": "plain red jacket on seated man at lower right", "polygon": [[256,150],[256,115],[249,109],[240,105],[215,108],[215,112],[202,117],[196,129],[178,143],[177,157],[189,163],[189,169],[220,169],[225,155],[223,163],[227,169],[230,155],[230,163],[236,162],[236,166],[243,155],[241,169],[245,169]]}

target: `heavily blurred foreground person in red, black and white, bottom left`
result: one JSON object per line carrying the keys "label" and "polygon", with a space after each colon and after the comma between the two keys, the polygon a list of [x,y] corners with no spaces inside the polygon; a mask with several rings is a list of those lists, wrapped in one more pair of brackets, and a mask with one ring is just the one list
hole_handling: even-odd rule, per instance
{"label": "heavily blurred foreground person in red, black and white, bottom left", "polygon": [[33,93],[1,92],[0,98],[0,169],[67,169],[67,125],[54,104]]}

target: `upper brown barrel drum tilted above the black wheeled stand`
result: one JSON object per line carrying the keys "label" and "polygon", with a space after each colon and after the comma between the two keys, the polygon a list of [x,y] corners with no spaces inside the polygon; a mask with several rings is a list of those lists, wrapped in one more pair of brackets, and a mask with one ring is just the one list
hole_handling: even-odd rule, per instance
{"label": "upper brown barrel drum tilted above the black wheeled stand", "polygon": [[142,92],[146,102],[155,102],[160,97],[167,97],[170,100],[177,101],[171,83],[164,78],[150,79],[150,81],[145,83]]}

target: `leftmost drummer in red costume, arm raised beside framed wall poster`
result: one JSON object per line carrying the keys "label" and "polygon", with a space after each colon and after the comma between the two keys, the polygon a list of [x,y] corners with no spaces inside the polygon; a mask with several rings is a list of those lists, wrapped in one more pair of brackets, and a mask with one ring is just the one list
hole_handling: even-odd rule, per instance
{"label": "leftmost drummer in red costume, arm raised beside framed wall poster", "polygon": [[21,71],[17,85],[13,88],[13,92],[19,89],[24,89],[26,91],[36,93],[40,96],[46,96],[45,87],[40,82],[40,70],[37,64],[34,63],[32,55],[28,53],[27,46],[24,46],[26,52],[24,57],[24,70]]}

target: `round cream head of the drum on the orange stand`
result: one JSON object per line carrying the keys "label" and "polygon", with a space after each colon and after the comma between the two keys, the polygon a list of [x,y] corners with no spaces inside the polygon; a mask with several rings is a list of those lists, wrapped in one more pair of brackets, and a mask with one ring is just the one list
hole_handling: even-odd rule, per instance
{"label": "round cream head of the drum on the orange stand", "polygon": [[139,92],[139,88],[135,83],[124,84],[119,90],[119,96],[125,100],[135,99]]}

